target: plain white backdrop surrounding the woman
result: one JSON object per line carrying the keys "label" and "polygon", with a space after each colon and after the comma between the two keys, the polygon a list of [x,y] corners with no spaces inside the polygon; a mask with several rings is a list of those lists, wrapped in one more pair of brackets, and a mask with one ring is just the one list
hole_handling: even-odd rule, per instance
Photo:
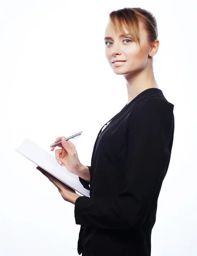
{"label": "plain white backdrop surrounding the woman", "polygon": [[105,57],[108,13],[152,12],[160,47],[154,75],[174,104],[174,143],[158,199],[151,256],[197,255],[195,1],[0,1],[0,255],[77,256],[74,205],[23,157],[25,138],[49,151],[71,139],[91,164],[100,128],[127,104],[126,81]]}

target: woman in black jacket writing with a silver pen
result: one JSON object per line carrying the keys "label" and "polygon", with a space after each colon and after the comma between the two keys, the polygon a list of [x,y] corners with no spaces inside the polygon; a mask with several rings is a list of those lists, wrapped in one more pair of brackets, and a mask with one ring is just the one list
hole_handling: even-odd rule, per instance
{"label": "woman in black jacket writing with a silver pen", "polygon": [[150,256],[157,199],[171,157],[174,105],[154,78],[152,57],[159,48],[154,16],[124,8],[109,17],[106,58],[114,73],[125,77],[128,102],[99,131],[91,166],[80,163],[69,140],[56,140],[62,140],[62,148],[55,151],[57,161],[79,176],[90,198],[40,171],[75,204],[75,221],[81,225],[79,254]]}

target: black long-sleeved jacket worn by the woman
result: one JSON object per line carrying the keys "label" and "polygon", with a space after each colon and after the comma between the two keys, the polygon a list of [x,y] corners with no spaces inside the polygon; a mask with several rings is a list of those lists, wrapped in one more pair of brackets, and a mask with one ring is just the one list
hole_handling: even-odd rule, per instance
{"label": "black long-sleeved jacket worn by the woman", "polygon": [[79,197],[74,206],[82,256],[151,255],[157,199],[173,144],[173,110],[160,89],[149,88],[100,129],[88,166],[90,188],[79,177],[90,198]]}

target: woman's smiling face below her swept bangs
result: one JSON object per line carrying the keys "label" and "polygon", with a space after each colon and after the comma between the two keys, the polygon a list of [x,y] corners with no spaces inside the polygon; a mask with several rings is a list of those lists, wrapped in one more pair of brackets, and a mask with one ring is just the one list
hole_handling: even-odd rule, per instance
{"label": "woman's smiling face below her swept bangs", "polygon": [[[124,31],[128,33],[126,29]],[[104,40],[106,43],[105,54],[114,73],[123,75],[144,69],[148,61],[151,46],[147,42],[147,32],[142,28],[142,24],[140,23],[141,47],[137,42],[132,41],[129,35],[120,36],[120,34],[121,32],[118,34],[114,32],[112,24],[109,21],[106,27],[105,37],[110,38]],[[111,62],[118,60],[125,62],[119,64],[113,64]],[[150,58],[149,61],[151,61]]]}

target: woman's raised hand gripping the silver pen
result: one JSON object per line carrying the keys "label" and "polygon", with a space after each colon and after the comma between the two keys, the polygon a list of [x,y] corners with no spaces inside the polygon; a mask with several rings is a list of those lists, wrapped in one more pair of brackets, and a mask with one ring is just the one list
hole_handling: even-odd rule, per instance
{"label": "woman's raised hand gripping the silver pen", "polygon": [[[55,158],[60,165],[66,166],[69,172],[77,175],[81,171],[82,163],[78,158],[75,145],[69,140],[62,140],[63,138],[65,137],[57,137],[55,141],[57,143],[61,140],[61,143],[57,145],[60,149],[55,150]],[[54,151],[55,147],[52,146],[51,151]]]}

